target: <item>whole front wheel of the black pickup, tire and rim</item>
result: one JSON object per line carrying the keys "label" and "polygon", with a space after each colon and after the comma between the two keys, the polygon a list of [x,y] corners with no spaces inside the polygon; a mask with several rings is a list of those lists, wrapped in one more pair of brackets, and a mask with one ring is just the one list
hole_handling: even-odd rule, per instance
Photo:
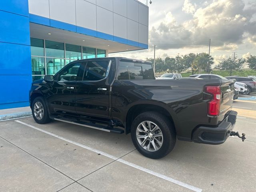
{"label": "whole front wheel of the black pickup, tire and rim", "polygon": [[32,103],[32,116],[39,124],[46,124],[50,122],[48,110],[43,97],[37,97]]}

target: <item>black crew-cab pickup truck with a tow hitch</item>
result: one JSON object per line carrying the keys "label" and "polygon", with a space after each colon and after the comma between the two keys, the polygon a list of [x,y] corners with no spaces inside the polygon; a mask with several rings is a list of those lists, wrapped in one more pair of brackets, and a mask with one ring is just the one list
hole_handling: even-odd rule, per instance
{"label": "black crew-cab pickup truck with a tow hitch", "polygon": [[162,158],[176,138],[222,144],[236,135],[233,95],[231,80],[156,80],[151,62],[94,58],[71,62],[54,76],[34,81],[30,107],[39,124],[58,120],[131,133],[141,154]]}

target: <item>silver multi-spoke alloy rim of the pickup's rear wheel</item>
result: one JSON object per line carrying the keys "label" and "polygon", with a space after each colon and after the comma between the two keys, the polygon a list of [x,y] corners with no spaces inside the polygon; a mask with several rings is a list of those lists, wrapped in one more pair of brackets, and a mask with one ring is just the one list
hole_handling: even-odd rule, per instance
{"label": "silver multi-spoke alloy rim of the pickup's rear wheel", "polygon": [[151,121],[141,122],[136,129],[136,137],[142,148],[149,152],[155,152],[162,147],[162,130]]}

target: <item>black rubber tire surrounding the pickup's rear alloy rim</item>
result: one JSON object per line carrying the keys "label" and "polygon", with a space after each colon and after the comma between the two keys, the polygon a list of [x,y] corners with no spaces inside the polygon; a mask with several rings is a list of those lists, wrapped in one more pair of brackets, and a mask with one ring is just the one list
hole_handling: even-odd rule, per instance
{"label": "black rubber tire surrounding the pickup's rear alloy rim", "polygon": [[[162,131],[162,137],[163,137],[162,146],[154,152],[150,152],[144,149],[137,140],[137,136],[136,136],[137,127],[140,125],[140,123],[144,121],[154,122]],[[136,147],[136,149],[138,150],[138,152],[140,152],[142,155],[146,157],[153,158],[153,159],[159,159],[169,154],[174,148],[176,143],[176,131],[173,123],[166,116],[157,112],[144,112],[138,115],[132,122],[131,137],[132,137],[132,142]]]}

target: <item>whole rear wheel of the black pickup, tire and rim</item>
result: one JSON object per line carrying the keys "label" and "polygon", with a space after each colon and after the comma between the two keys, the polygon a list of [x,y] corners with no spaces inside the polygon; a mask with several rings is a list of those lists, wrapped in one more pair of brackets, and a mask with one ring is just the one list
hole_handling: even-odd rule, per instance
{"label": "whole rear wheel of the black pickup, tire and rim", "polygon": [[138,115],[132,123],[131,137],[138,152],[153,159],[166,156],[176,143],[174,125],[157,112]]}

